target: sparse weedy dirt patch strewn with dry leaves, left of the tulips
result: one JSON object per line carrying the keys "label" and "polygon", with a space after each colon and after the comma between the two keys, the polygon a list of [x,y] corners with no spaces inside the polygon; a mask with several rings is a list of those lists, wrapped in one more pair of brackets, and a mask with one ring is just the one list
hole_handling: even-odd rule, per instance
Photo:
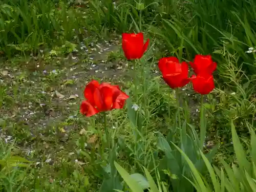
{"label": "sparse weedy dirt patch strewn with dry leaves, left of the tulips", "polygon": [[20,153],[36,161],[74,151],[79,131],[86,129],[79,114],[86,84],[92,78],[113,83],[124,78],[127,65],[119,59],[118,42],[81,44],[78,52],[65,57],[42,53],[29,62],[2,63],[1,137],[15,139]]}

